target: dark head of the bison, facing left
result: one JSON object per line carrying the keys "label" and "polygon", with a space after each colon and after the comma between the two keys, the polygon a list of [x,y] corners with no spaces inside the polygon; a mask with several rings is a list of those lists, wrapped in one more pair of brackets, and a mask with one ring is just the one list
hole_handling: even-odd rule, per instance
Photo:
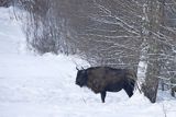
{"label": "dark head of the bison, facing left", "polygon": [[76,77],[76,84],[80,87],[87,84],[87,71],[86,70],[78,70]]}

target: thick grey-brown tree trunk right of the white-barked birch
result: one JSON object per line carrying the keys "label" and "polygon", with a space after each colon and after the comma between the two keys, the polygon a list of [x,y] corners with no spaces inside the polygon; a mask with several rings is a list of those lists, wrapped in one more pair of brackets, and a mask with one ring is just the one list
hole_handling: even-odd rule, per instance
{"label": "thick grey-brown tree trunk right of the white-barked birch", "polygon": [[160,37],[156,35],[160,32],[160,24],[162,23],[161,13],[162,3],[157,0],[147,0],[145,10],[145,25],[147,31],[144,34],[148,44],[147,50],[147,68],[145,73],[145,81],[142,83],[142,91],[144,95],[148,97],[152,103],[156,101],[157,87],[158,87],[158,74],[160,74]]}

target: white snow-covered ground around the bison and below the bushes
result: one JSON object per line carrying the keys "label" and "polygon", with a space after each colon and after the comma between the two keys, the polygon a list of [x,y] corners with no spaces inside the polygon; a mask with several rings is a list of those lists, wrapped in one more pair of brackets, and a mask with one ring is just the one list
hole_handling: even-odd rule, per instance
{"label": "white snow-covered ground around the bison and below the bushes", "polygon": [[[25,50],[20,22],[0,8],[0,117],[176,117],[176,100],[158,93],[151,104],[139,92],[100,95],[75,84],[76,56],[34,56]],[[10,13],[11,14],[11,13]]]}

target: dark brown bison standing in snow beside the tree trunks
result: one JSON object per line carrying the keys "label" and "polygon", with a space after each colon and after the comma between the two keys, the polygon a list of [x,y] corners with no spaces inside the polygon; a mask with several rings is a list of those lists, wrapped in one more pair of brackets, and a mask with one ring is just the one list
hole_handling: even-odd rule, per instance
{"label": "dark brown bison standing in snow beside the tree trunks", "polygon": [[129,97],[133,95],[136,73],[128,69],[113,69],[109,67],[92,67],[78,70],[76,84],[91,89],[96,94],[101,94],[105,103],[106,92],[124,90]]}

